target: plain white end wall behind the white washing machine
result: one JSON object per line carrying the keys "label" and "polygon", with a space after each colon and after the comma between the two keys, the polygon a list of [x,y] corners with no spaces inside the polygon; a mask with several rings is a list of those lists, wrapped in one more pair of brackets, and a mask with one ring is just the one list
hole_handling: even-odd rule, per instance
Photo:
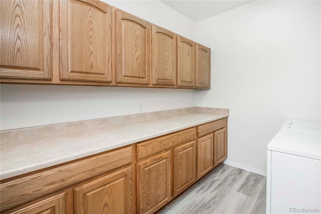
{"label": "plain white end wall behind the white washing machine", "polygon": [[212,48],[198,106],[229,108],[228,161],[266,171],[286,119],[320,121],[320,2],[255,1],[196,23]]}

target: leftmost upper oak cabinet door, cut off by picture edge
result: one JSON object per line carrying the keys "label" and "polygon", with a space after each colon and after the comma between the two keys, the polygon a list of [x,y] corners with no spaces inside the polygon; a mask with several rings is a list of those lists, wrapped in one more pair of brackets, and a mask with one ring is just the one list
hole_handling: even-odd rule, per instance
{"label": "leftmost upper oak cabinet door, cut off by picture edge", "polygon": [[0,1],[0,74],[52,78],[51,1]]}

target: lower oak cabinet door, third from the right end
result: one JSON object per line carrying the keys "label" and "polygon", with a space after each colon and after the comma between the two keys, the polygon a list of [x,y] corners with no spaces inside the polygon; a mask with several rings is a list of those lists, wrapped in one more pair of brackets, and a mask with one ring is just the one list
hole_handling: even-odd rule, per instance
{"label": "lower oak cabinet door, third from the right end", "polygon": [[174,197],[196,181],[196,141],[173,150]]}

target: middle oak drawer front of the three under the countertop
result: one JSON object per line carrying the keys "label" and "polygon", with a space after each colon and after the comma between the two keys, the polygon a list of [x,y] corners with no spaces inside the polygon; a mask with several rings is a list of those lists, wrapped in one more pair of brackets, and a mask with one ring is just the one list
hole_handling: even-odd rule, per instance
{"label": "middle oak drawer front of the three under the countertop", "polygon": [[196,139],[196,128],[137,144],[137,160]]}

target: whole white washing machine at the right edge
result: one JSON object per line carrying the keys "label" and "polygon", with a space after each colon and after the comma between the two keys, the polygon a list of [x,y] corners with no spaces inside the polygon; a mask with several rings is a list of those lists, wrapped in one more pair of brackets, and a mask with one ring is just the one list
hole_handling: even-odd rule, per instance
{"label": "whole white washing machine at the right edge", "polygon": [[320,122],[288,120],[267,145],[266,213],[321,213]]}

